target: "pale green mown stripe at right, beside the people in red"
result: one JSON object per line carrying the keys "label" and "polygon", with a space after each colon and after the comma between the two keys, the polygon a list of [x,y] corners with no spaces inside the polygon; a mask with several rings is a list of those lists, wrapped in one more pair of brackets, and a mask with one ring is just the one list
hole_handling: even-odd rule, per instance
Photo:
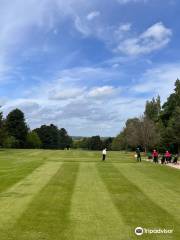
{"label": "pale green mown stripe at right, beside the people in red", "polygon": [[[168,188],[166,182],[169,182],[170,179],[166,178],[166,182],[164,182],[163,169],[161,169],[161,176],[158,174],[154,177],[154,171],[156,171],[156,166],[153,169],[149,169],[149,174],[146,171],[142,171],[143,166],[118,166],[115,164],[116,168],[131,182],[136,184],[141,191],[146,194],[149,199],[172,214],[177,221],[180,221],[180,208],[177,206],[177,202],[179,201],[179,193],[176,188],[179,190],[178,184]],[[153,173],[153,174],[151,174]],[[167,176],[167,175],[166,175]],[[171,181],[170,181],[171,182]],[[168,196],[171,196],[169,198]]]}

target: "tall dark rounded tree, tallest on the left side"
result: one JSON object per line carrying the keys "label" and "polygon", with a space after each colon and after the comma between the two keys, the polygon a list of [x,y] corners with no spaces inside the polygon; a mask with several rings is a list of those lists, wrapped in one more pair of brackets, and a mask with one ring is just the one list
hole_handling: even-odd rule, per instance
{"label": "tall dark rounded tree, tallest on the left side", "polygon": [[16,147],[25,147],[28,127],[25,122],[24,113],[19,109],[11,111],[7,115],[5,125],[8,136],[16,139]]}

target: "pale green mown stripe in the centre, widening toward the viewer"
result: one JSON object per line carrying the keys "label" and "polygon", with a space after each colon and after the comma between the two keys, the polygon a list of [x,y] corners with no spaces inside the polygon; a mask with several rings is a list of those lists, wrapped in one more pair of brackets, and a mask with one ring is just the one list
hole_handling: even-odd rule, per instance
{"label": "pale green mown stripe in the centre, widening toward the viewer", "polygon": [[96,164],[81,163],[71,214],[71,240],[127,240],[122,219],[98,175]]}

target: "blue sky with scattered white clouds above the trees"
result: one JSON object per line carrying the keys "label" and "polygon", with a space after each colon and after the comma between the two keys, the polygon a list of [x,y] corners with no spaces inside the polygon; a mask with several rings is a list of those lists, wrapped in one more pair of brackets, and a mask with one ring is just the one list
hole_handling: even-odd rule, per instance
{"label": "blue sky with scattered white clouds above the trees", "polygon": [[180,78],[178,0],[0,0],[0,106],[116,136]]}

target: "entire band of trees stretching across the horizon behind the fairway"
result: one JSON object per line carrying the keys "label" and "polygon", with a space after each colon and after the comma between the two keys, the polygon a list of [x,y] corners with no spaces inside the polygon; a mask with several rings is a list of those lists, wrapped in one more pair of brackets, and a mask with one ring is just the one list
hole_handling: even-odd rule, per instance
{"label": "entire band of trees stretching across the horizon behind the fairway", "polygon": [[87,150],[134,150],[153,148],[180,153],[180,80],[174,92],[161,106],[160,97],[146,102],[144,114],[126,121],[124,129],[115,138],[92,136],[72,141],[66,129],[42,125],[31,131],[24,113],[15,109],[4,119],[0,113],[0,146],[6,148],[80,148]]}

